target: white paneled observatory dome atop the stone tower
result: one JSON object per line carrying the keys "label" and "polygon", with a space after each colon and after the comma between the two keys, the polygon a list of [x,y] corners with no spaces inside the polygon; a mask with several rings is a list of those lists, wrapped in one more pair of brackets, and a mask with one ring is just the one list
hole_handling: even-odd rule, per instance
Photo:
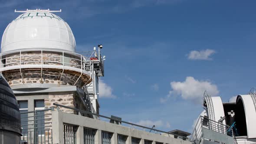
{"label": "white paneled observatory dome atop the stone tower", "polygon": [[47,49],[75,52],[75,38],[69,25],[49,12],[27,12],[5,29],[1,52]]}

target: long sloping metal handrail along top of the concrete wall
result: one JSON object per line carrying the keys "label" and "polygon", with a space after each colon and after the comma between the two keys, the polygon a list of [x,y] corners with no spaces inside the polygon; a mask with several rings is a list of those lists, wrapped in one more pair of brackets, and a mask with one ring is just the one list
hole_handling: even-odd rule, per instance
{"label": "long sloping metal handrail along top of the concrete wall", "polygon": [[[98,117],[107,118],[107,119],[110,119],[110,120],[122,122],[122,123],[125,123],[125,124],[130,124],[130,125],[141,127],[141,128],[146,128],[146,129],[153,130],[153,131],[158,131],[158,132],[162,132],[162,133],[166,133],[166,134],[172,134],[172,133],[169,133],[167,131],[161,131],[161,130],[158,130],[158,129],[145,127],[145,126],[142,126],[142,125],[139,125],[139,124],[134,124],[134,123],[127,122],[127,121],[121,121],[121,120],[118,120],[118,119],[115,119],[115,118],[110,118],[110,117],[107,117],[107,116],[104,116],[104,115],[94,114],[94,113],[89,112],[89,111],[83,111],[83,110],[80,110],[80,109],[77,109],[77,108],[71,108],[71,107],[68,107],[68,106],[65,106],[65,105],[59,105],[59,104],[56,104],[56,103],[53,103],[53,105],[56,105],[56,106],[59,106],[59,107],[63,107],[63,108],[69,108],[69,109],[72,109],[72,110],[75,110],[75,111],[79,111],[79,112],[82,112],[82,113],[86,113],[86,114],[96,115]],[[188,139],[188,137],[184,137],[184,136],[181,136],[181,135],[178,135],[178,134],[172,134],[172,135]]]}

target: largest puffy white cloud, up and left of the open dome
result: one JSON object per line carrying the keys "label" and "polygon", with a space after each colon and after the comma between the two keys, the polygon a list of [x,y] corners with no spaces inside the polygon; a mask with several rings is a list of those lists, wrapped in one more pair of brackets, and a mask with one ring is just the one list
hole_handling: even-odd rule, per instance
{"label": "largest puffy white cloud, up and left of the open dome", "polygon": [[194,79],[194,77],[191,76],[188,76],[184,82],[171,82],[171,88],[172,90],[166,97],[160,98],[161,103],[166,102],[171,96],[181,96],[181,98],[185,100],[200,103],[204,91],[207,91],[208,94],[212,96],[219,94],[217,85],[214,85],[209,81]]}

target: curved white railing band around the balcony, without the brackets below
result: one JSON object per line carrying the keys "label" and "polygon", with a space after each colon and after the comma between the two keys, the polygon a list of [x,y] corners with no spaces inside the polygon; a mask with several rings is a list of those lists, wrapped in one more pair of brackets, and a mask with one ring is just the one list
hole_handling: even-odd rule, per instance
{"label": "curved white railing band around the balcony, without the brackets below", "polygon": [[44,65],[62,65],[92,71],[92,69],[85,67],[85,62],[91,61],[90,58],[75,52],[42,49],[20,50],[1,53],[0,60],[0,71],[13,65],[22,65],[23,68],[25,65],[42,65],[43,68],[46,67]]}

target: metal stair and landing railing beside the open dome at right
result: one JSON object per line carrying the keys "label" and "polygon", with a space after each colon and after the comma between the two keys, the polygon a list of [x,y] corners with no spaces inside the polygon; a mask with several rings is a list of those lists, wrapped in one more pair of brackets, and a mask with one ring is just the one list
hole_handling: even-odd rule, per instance
{"label": "metal stair and landing railing beside the open dome at right", "polygon": [[227,131],[230,126],[200,116],[195,124],[190,141],[199,144],[203,138],[203,128],[233,137],[233,131]]}

